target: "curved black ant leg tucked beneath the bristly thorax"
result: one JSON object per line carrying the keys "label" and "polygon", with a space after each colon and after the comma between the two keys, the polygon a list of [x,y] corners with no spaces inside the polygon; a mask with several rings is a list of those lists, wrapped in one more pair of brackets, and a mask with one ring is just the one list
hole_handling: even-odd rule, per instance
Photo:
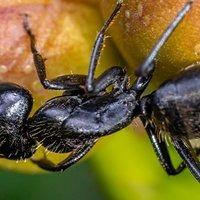
{"label": "curved black ant leg tucked beneath the bristly thorax", "polygon": [[54,164],[47,158],[43,158],[40,160],[31,159],[31,161],[38,165],[38,167],[45,169],[47,171],[58,172],[64,171],[76,162],[78,162],[83,156],[85,156],[90,149],[95,145],[97,139],[89,140],[84,144],[80,145],[77,149],[75,149],[65,160],[61,161],[58,164]]}

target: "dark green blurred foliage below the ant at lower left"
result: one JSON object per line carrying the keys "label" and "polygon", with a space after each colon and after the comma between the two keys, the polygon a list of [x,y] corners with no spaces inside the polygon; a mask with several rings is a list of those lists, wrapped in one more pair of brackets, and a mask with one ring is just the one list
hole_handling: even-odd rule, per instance
{"label": "dark green blurred foliage below the ant at lower left", "polygon": [[0,172],[1,200],[106,200],[88,162],[63,173]]}

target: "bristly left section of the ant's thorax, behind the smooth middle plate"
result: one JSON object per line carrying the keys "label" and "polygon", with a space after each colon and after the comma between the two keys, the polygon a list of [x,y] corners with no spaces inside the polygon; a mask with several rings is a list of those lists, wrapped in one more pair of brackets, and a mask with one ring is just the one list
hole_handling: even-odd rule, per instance
{"label": "bristly left section of the ant's thorax, behind the smooth middle plate", "polygon": [[70,152],[83,141],[66,137],[64,121],[79,105],[76,96],[61,96],[49,100],[29,121],[29,134],[48,150],[56,153]]}

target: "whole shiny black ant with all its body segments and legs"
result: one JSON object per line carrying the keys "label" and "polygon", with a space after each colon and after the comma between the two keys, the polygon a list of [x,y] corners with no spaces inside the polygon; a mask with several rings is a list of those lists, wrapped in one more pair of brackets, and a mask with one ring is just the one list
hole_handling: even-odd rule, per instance
{"label": "whole shiny black ant with all its body segments and legs", "polygon": [[[128,126],[139,116],[166,172],[176,175],[187,166],[200,181],[200,166],[197,159],[199,148],[191,147],[191,140],[200,137],[199,66],[184,71],[176,78],[165,82],[157,91],[141,97],[152,78],[154,59],[159,49],[190,10],[191,4],[192,1],[185,4],[163,33],[148,58],[137,70],[138,77],[133,84],[130,84],[126,71],[117,66],[94,79],[105,32],[120,10],[122,1],[117,3],[97,36],[88,76],[66,75],[47,80],[44,60],[35,48],[35,37],[25,17],[24,28],[31,40],[31,50],[41,84],[46,89],[64,90],[64,93],[47,101],[28,119],[32,107],[30,94],[17,85],[5,84],[7,89],[4,87],[0,92],[0,96],[2,94],[4,99],[0,103],[3,107],[1,113],[5,113],[6,123],[9,125],[0,127],[5,132],[5,136],[1,139],[2,144],[5,144],[0,151],[2,156],[11,159],[30,157],[37,141],[50,151],[71,152],[71,154],[58,164],[52,163],[47,158],[32,159],[32,161],[49,171],[65,170],[80,160],[101,136]],[[6,92],[9,93],[9,97],[16,94],[14,96],[19,96],[21,101],[17,97],[5,97]],[[174,147],[183,159],[178,168],[171,162],[163,140],[164,134],[160,131],[168,132]],[[10,148],[12,145],[8,142],[12,143],[15,138],[19,138],[18,142]],[[6,145],[9,148],[6,149]]]}

